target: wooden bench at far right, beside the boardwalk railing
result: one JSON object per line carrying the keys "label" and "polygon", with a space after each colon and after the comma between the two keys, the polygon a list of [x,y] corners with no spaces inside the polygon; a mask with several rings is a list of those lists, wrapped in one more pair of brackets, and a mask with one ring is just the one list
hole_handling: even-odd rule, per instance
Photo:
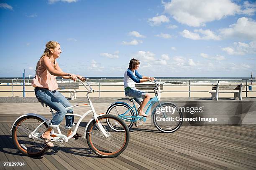
{"label": "wooden bench at far right, beside the boardwalk railing", "polygon": [[241,83],[240,85],[228,85],[223,84],[212,84],[212,90],[208,91],[212,94],[212,100],[219,100],[218,93],[234,93],[234,100],[238,97],[239,100],[242,99],[242,91],[244,90],[244,85]]}

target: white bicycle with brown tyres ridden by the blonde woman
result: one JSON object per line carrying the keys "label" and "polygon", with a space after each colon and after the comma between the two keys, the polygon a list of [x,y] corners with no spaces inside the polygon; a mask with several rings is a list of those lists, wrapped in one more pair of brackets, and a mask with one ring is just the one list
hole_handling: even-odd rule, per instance
{"label": "white bicycle with brown tyres ridden by the blonde woman", "polygon": [[[51,141],[54,144],[59,146],[64,146],[69,139],[71,139],[77,132],[79,124],[87,116],[90,112],[93,113],[92,119],[87,123],[84,130],[84,137],[87,139],[87,143],[90,149],[100,157],[104,158],[112,158],[120,155],[129,143],[129,130],[126,124],[118,117],[113,115],[97,115],[95,109],[92,105],[92,102],[88,96],[88,94],[94,92],[92,87],[88,82],[88,78],[86,78],[86,82],[88,87],[82,82],[84,87],[87,89],[87,98],[89,103],[82,105],[74,105],[71,107],[67,107],[66,109],[70,109],[72,107],[81,107],[81,106],[90,106],[91,109],[85,112],[83,115],[77,114],[66,114],[79,116],[79,120],[77,125],[75,126],[74,132],[72,135],[67,137],[61,133],[60,128],[57,128],[58,133],[54,133],[54,130],[51,131]],[[44,103],[41,103],[44,106]],[[54,112],[51,109],[51,114],[54,116]],[[14,145],[18,148],[18,150],[24,155],[28,155],[31,157],[37,157],[44,155],[44,153],[49,149],[44,143],[44,140],[40,138],[40,135],[44,133],[46,128],[48,128],[49,120],[45,117],[29,113],[18,117],[10,130],[12,130],[12,138]],[[115,129],[125,129],[123,132],[118,132],[110,128],[111,126],[115,127]]]}

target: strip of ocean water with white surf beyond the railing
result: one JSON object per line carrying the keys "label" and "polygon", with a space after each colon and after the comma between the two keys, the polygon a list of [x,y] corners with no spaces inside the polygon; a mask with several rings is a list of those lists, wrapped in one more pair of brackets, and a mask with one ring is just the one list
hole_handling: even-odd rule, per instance
{"label": "strip of ocean water with white surf beyond the railing", "polygon": [[[123,77],[88,77],[89,81],[92,84],[99,84],[99,79],[101,84],[123,84]],[[217,83],[218,80],[220,83],[231,83],[231,82],[245,82],[250,79],[250,77],[155,77],[156,80],[161,80],[161,83],[170,83],[170,84],[209,84]],[[28,79],[28,77],[26,77]],[[30,80],[26,80],[26,84],[30,84],[33,77],[30,77]],[[119,80],[118,80],[119,79]],[[20,84],[23,82],[22,77],[0,77],[1,84],[10,84],[11,82],[15,84]],[[57,81],[69,82],[67,79],[60,79],[57,77]]]}

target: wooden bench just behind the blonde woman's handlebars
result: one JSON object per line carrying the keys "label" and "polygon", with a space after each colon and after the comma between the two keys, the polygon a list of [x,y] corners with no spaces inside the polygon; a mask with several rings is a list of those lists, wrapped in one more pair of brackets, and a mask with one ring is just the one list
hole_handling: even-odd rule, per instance
{"label": "wooden bench just behind the blonde woman's handlebars", "polygon": [[69,92],[71,100],[77,98],[77,89],[79,88],[78,82],[58,82],[59,92]]}

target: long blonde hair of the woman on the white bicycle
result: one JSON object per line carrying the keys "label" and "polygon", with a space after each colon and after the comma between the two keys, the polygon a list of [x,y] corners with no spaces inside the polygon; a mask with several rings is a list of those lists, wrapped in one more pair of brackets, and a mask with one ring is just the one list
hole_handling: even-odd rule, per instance
{"label": "long blonde hair of the woman on the white bicycle", "polygon": [[[38,67],[41,65],[41,61],[45,58],[45,57],[51,57],[51,50],[53,50],[54,48],[56,48],[59,44],[59,42],[56,41],[49,41],[46,43],[45,45],[45,49],[44,49],[44,53],[43,55],[41,55],[40,59],[38,60],[37,64],[36,64],[36,70],[38,69]],[[54,69],[56,70],[56,64],[54,61]],[[36,71],[35,71],[36,72]]]}

